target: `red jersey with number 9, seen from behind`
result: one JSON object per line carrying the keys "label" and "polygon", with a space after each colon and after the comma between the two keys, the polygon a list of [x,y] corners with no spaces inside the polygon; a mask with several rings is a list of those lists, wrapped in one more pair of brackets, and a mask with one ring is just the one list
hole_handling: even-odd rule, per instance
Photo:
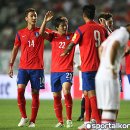
{"label": "red jersey with number 9, seen from behind", "polygon": [[76,30],[72,42],[79,43],[82,72],[98,70],[98,47],[104,40],[103,27],[94,21],[89,21]]}

